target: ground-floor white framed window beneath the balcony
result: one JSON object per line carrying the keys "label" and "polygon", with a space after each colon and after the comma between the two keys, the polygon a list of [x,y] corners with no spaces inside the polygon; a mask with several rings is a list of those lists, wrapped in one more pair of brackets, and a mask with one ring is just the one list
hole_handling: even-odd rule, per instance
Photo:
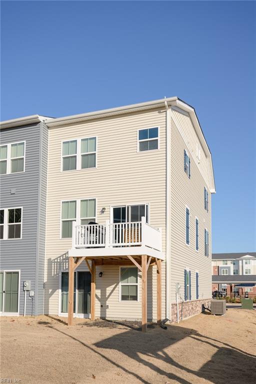
{"label": "ground-floor white framed window beneath the balcony", "polygon": [[120,301],[138,301],[138,269],[120,267]]}

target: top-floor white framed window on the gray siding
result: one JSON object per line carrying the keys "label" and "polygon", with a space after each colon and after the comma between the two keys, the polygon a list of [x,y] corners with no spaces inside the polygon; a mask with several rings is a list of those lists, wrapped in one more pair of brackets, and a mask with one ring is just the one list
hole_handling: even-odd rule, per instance
{"label": "top-floor white framed window on the gray siding", "polygon": [[24,172],[25,141],[0,145],[0,174]]}

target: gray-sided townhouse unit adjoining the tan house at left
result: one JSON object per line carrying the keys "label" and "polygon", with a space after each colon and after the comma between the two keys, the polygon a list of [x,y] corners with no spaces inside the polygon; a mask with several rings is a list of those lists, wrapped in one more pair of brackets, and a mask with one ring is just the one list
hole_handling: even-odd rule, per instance
{"label": "gray-sided townhouse unit adjoining the tan house at left", "polygon": [[[0,313],[43,313],[48,129],[32,115],[0,123]],[[27,281],[26,291],[23,282]]]}

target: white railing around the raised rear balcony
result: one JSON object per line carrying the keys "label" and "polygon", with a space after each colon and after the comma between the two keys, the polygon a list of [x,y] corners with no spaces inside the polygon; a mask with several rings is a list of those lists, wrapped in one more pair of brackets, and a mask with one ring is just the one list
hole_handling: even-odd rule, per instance
{"label": "white railing around the raised rear balcony", "polygon": [[136,222],[105,225],[78,225],[72,222],[72,248],[118,247],[145,245],[161,251],[161,228],[154,228],[141,218]]}

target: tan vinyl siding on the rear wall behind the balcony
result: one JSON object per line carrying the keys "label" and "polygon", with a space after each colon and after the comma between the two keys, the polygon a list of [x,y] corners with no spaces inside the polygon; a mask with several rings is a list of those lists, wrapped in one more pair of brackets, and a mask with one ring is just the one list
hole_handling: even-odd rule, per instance
{"label": "tan vinyl siding on the rear wall behind the balcony", "polygon": [[[110,218],[111,205],[149,203],[149,221],[162,228],[165,251],[165,116],[164,111],[153,110],[49,129],[45,313],[58,313],[59,274],[67,266],[66,252],[71,248],[71,239],[60,239],[61,200],[95,197],[98,223]],[[160,149],[137,153],[137,129],[153,126],[159,126]],[[97,167],[61,172],[61,141],[88,136],[97,137]],[[102,207],[106,208],[104,214],[100,213]],[[156,318],[155,267],[153,282],[150,269],[148,317]],[[99,271],[103,271],[101,278]],[[164,265],[162,275],[164,314]],[[97,267],[96,276],[96,316],[106,311],[111,318],[140,318],[140,301],[119,302],[118,266]]]}

